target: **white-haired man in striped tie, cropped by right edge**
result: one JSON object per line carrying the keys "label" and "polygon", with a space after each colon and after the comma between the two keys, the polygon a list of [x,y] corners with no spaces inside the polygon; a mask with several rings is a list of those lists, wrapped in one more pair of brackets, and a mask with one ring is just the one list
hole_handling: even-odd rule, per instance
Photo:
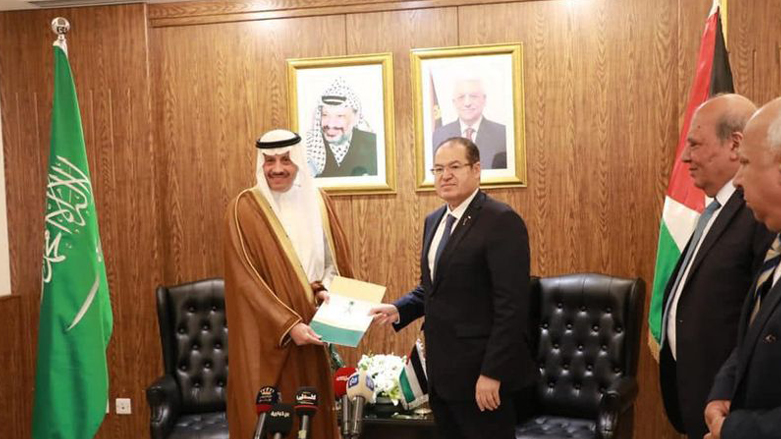
{"label": "white-haired man in striped tie, cropped by right edge", "polygon": [[[735,184],[768,229],[781,232],[781,99],[746,126]],[[713,383],[706,439],[781,438],[781,241],[778,235],[749,289],[738,344]]]}

